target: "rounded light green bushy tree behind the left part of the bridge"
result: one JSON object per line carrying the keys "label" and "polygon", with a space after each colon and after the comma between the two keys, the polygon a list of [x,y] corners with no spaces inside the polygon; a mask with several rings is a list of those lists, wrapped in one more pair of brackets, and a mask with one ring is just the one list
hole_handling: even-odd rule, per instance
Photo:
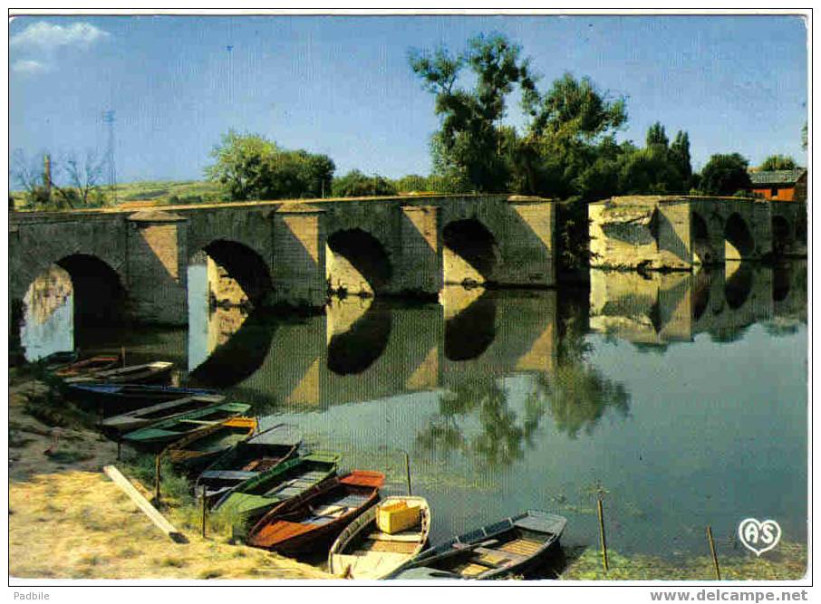
{"label": "rounded light green bushy tree behind the left part of the bridge", "polygon": [[322,197],[331,190],[333,160],[304,149],[280,149],[258,134],[229,130],[211,151],[206,176],[226,187],[232,199]]}

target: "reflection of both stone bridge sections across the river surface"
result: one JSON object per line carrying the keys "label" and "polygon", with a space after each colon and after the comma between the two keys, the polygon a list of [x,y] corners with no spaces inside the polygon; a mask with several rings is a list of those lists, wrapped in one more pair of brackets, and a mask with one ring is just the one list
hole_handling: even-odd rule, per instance
{"label": "reflection of both stone bridge sections across the river surface", "polygon": [[736,340],[756,322],[776,335],[807,323],[806,261],[729,263],[695,273],[592,270],[589,299],[581,301],[565,300],[564,291],[461,286],[445,287],[439,304],[333,298],[323,314],[294,318],[209,306],[203,266],[190,266],[188,281],[187,345],[182,330],[140,338],[111,329],[89,338],[74,333],[72,283],[55,266],[25,298],[27,358],[72,343],[88,342],[92,350],[99,340],[103,348],[128,344],[135,360],[148,360],[160,354],[159,342],[161,354],[187,367],[193,381],[236,388],[271,406],[320,409],[519,372],[548,383],[559,365],[581,359],[575,350],[589,331],[664,347],[701,333]]}

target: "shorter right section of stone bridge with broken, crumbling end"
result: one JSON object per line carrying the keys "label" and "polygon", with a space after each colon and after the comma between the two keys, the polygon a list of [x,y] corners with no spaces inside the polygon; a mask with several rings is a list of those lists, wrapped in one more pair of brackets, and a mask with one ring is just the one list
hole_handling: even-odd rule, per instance
{"label": "shorter right section of stone bridge with broken, crumbling end", "polygon": [[591,204],[591,264],[694,265],[807,255],[807,206],[739,197],[633,196]]}

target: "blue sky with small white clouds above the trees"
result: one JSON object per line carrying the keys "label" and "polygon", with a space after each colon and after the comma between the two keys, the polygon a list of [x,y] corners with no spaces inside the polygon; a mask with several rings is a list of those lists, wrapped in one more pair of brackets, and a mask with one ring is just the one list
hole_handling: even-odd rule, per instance
{"label": "blue sky with small white clouds above the trees", "polygon": [[9,149],[102,151],[111,109],[121,182],[201,178],[230,128],[326,153],[337,174],[427,174],[438,120],[408,49],[491,32],[523,46],[541,90],[566,71],[627,97],[620,139],[643,144],[659,120],[690,133],[696,168],[732,151],[806,163],[805,24],[752,15],[20,17]]}

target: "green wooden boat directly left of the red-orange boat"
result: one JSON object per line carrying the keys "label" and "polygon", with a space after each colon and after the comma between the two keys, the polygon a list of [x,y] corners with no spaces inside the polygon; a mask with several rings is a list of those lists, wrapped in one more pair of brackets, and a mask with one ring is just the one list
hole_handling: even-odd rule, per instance
{"label": "green wooden boat directly left of the red-orange boat", "polygon": [[214,505],[241,519],[242,524],[256,521],[279,503],[303,495],[311,487],[336,474],[339,455],[317,454],[295,457],[239,484]]}

